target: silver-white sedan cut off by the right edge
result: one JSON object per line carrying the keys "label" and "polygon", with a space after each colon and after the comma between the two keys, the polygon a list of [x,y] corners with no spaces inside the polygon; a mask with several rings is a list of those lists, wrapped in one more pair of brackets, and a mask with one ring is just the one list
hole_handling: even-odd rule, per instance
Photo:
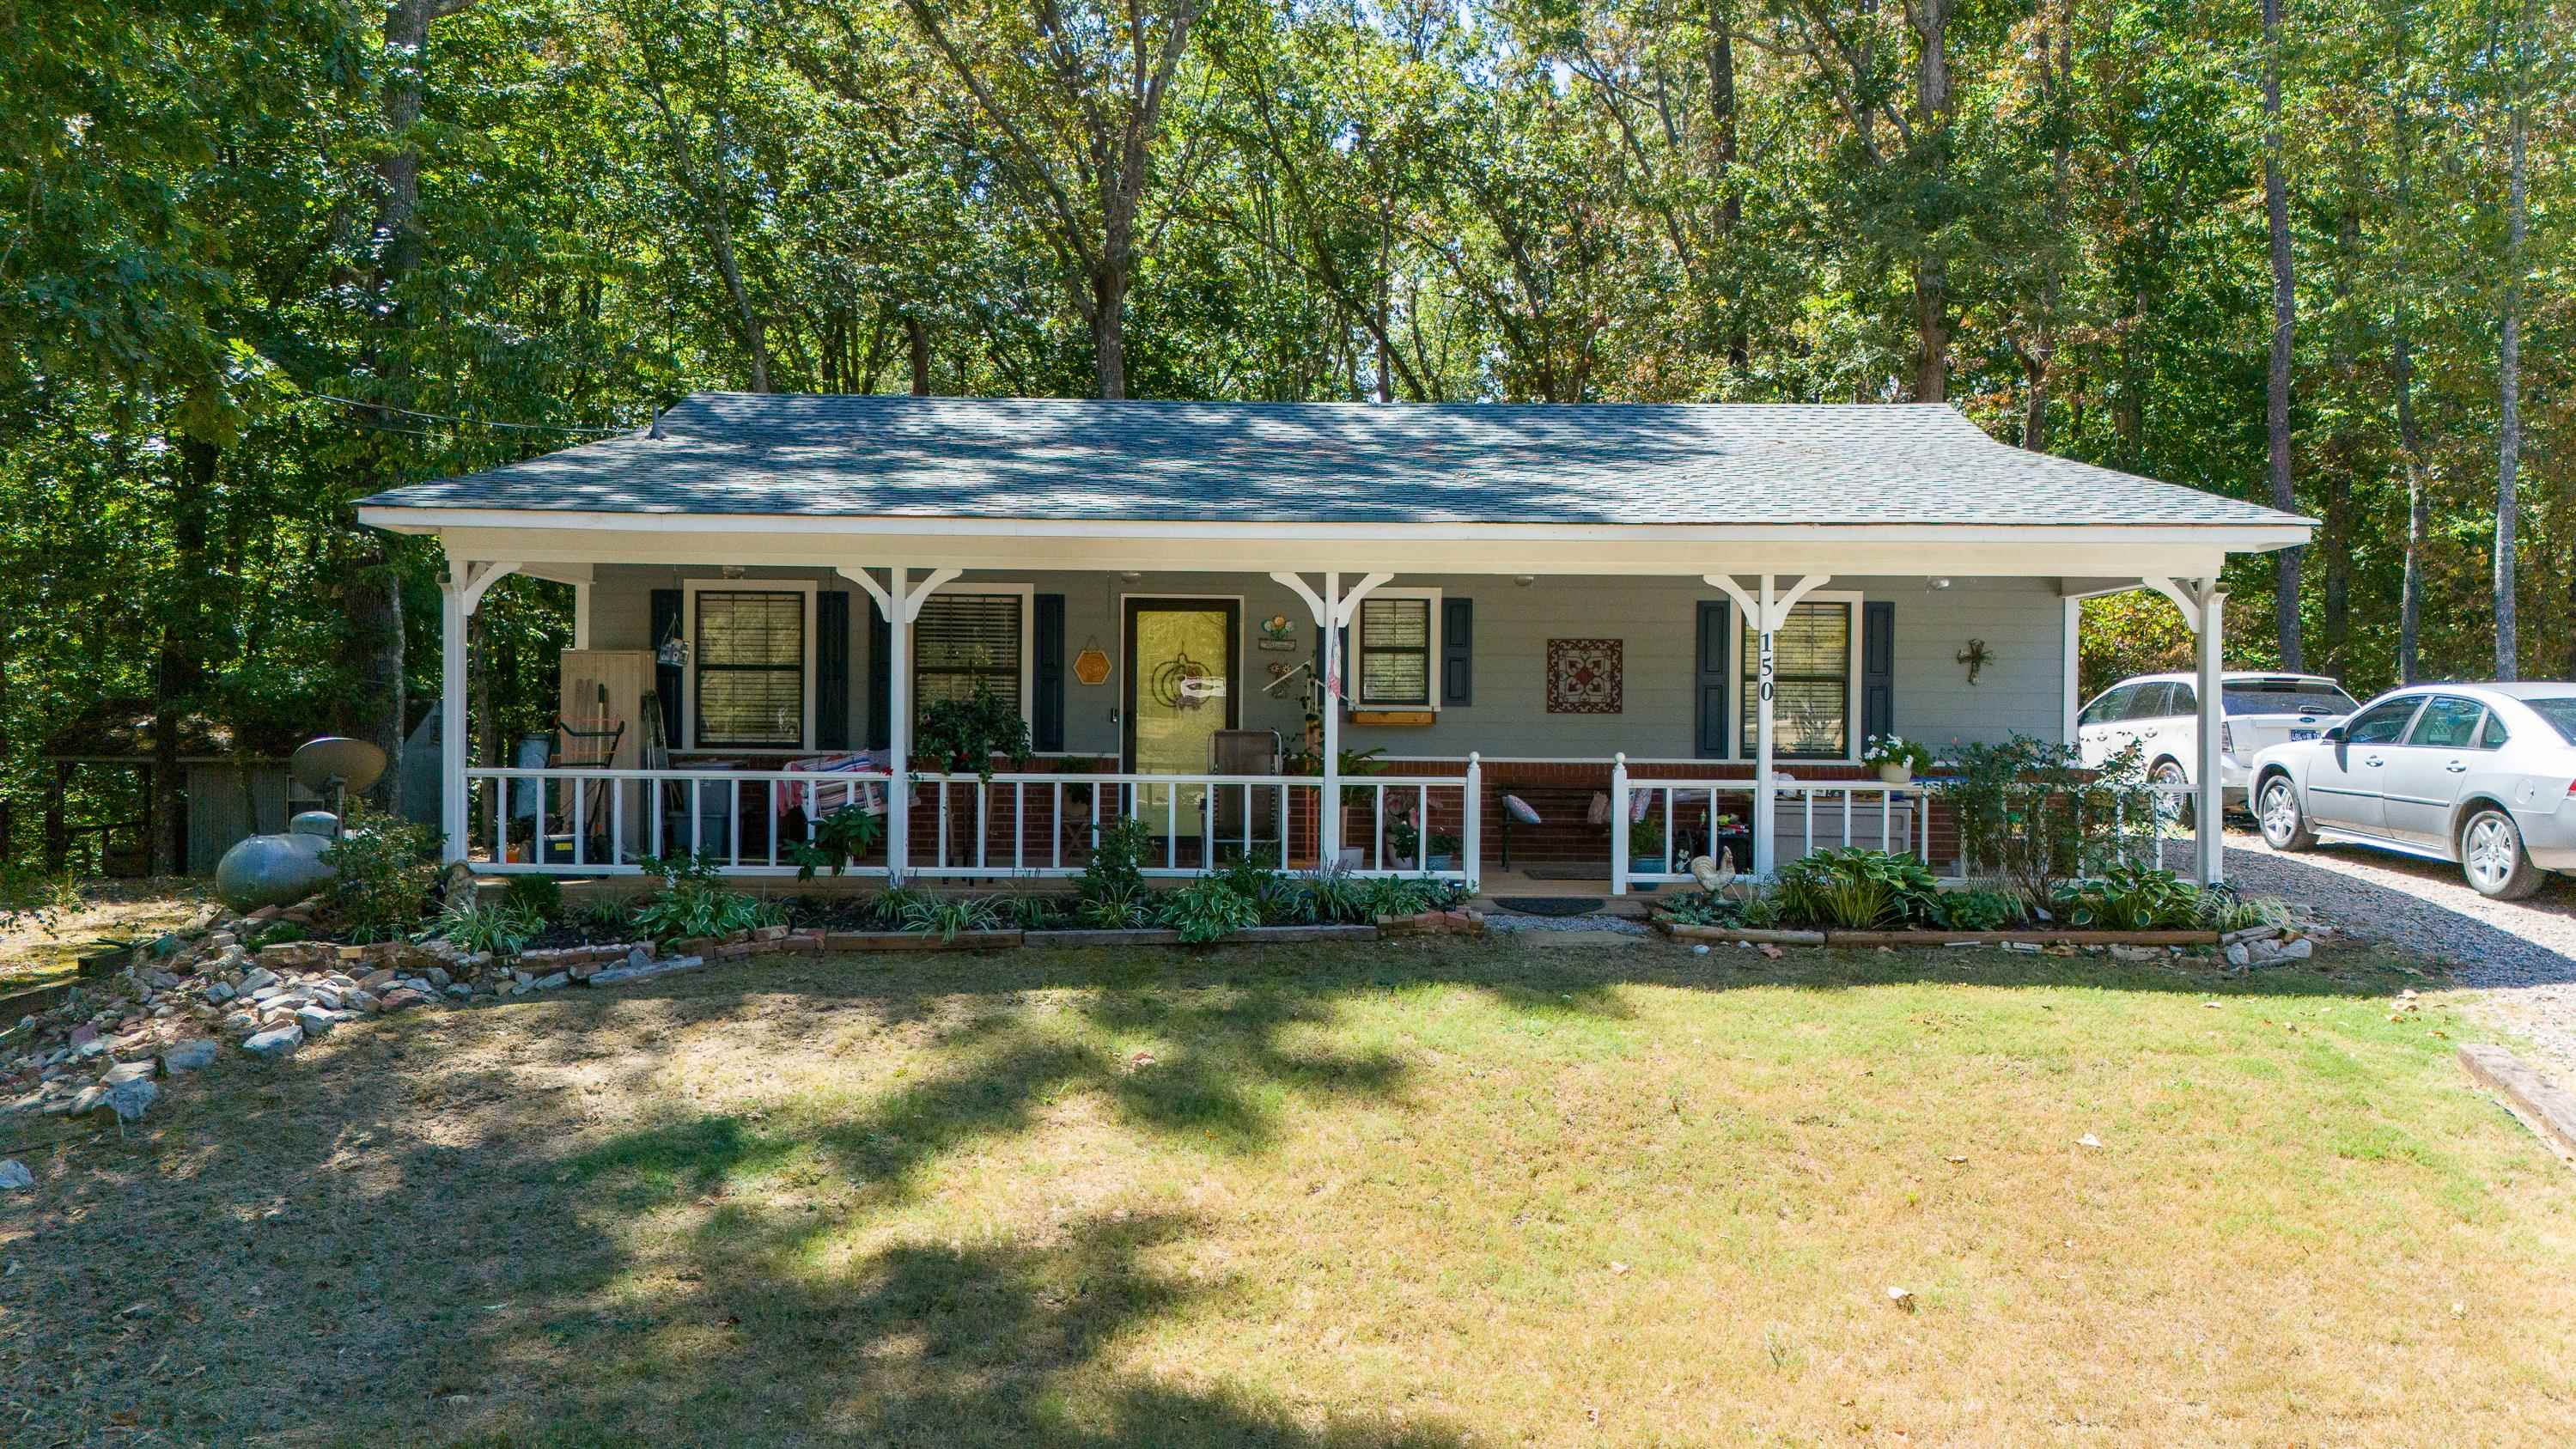
{"label": "silver-white sedan cut off by the right edge", "polygon": [[2576,685],[2411,685],[2254,757],[2272,849],[2354,839],[2460,865],[2519,901],[2576,870]]}

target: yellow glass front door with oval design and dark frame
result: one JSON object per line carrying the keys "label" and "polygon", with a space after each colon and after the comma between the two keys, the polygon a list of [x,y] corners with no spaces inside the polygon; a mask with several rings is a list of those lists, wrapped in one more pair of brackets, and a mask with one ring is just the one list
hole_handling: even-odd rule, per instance
{"label": "yellow glass front door with oval design and dark frame", "polygon": [[[1126,746],[1136,775],[1206,775],[1216,731],[1234,726],[1234,600],[1128,600]],[[1203,790],[1139,788],[1154,834],[1198,839]]]}

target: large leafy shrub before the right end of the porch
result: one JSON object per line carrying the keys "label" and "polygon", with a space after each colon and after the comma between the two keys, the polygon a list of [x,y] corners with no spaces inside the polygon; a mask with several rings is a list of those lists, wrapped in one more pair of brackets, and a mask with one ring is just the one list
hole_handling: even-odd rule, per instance
{"label": "large leafy shrub before the right end of the porch", "polygon": [[2025,734],[1960,746],[1937,785],[1968,867],[2043,906],[2061,880],[2115,865],[2154,826],[2154,793],[2130,744],[2087,770],[2071,744]]}

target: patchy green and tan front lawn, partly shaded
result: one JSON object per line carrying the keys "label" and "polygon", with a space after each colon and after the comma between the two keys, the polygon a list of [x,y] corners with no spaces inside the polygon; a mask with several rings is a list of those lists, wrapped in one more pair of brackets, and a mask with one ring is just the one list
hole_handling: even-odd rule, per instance
{"label": "patchy green and tan front lawn, partly shaded", "polygon": [[2576,1174],[2465,1086],[2450,1009],[2391,1019],[2414,978],[2318,965],[796,957],[345,1027],[31,1161],[0,1410],[26,1444],[2568,1441]]}

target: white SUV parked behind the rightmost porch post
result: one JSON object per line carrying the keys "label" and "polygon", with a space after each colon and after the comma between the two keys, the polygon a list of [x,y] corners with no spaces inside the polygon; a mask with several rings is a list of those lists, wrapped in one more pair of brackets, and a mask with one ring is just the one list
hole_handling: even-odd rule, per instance
{"label": "white SUV parked behind the rightmost porch post", "polygon": [[[2218,790],[2246,800],[2246,762],[2285,739],[2316,739],[2347,713],[2352,695],[2324,674],[2231,672],[2218,679]],[[2076,715],[2076,749],[2099,770],[2130,744],[2156,785],[2200,777],[2200,682],[2195,674],[2138,674],[2102,690]]]}

